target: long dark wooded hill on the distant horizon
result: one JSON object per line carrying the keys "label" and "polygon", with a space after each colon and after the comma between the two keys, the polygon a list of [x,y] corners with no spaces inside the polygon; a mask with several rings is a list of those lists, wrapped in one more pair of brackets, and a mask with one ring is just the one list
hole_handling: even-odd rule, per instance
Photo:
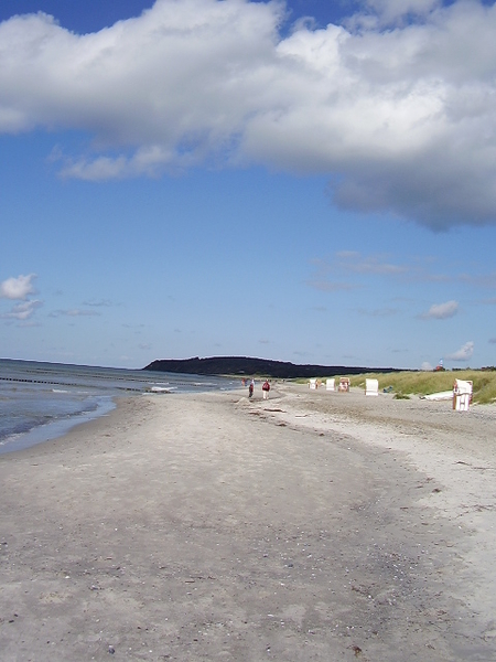
{"label": "long dark wooded hill on the distant horizon", "polygon": [[208,359],[162,359],[153,361],[143,370],[183,373],[191,375],[262,375],[279,380],[298,377],[332,377],[363,373],[399,372],[393,367],[349,367],[345,365],[298,365],[285,361],[250,359],[247,356],[212,356]]}

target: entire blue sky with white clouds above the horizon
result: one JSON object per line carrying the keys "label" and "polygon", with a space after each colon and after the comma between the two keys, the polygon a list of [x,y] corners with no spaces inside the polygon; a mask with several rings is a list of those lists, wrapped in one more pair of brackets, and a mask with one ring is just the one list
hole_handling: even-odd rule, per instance
{"label": "entire blue sky with white clouds above the horizon", "polygon": [[493,2],[0,21],[2,357],[496,364]]}

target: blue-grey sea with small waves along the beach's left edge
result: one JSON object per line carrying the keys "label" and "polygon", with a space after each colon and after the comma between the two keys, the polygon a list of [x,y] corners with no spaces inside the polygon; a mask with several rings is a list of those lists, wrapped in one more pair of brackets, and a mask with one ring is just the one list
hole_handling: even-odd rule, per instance
{"label": "blue-grey sea with small waves along the beach's left edge", "polygon": [[119,396],[230,391],[228,377],[0,359],[0,453],[61,437],[108,415]]}

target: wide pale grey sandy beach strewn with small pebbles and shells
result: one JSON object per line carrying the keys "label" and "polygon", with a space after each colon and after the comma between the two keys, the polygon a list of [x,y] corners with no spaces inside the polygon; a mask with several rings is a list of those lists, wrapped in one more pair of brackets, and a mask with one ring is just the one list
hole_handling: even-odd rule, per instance
{"label": "wide pale grey sandy beach strewn with small pebbles and shells", "polygon": [[0,457],[2,661],[496,660],[496,408],[261,395]]}

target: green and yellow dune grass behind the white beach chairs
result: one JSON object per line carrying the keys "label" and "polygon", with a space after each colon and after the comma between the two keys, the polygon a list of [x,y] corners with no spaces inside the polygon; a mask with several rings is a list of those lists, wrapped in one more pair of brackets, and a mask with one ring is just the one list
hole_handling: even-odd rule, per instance
{"label": "green and yellow dune grass behind the white beach chairs", "polygon": [[460,370],[439,372],[398,372],[398,373],[369,373],[349,375],[351,385],[365,388],[366,378],[379,381],[379,389],[390,389],[396,397],[421,396],[453,388],[455,380],[473,382],[474,391],[472,402],[489,404],[496,402],[496,371],[495,370]]}

